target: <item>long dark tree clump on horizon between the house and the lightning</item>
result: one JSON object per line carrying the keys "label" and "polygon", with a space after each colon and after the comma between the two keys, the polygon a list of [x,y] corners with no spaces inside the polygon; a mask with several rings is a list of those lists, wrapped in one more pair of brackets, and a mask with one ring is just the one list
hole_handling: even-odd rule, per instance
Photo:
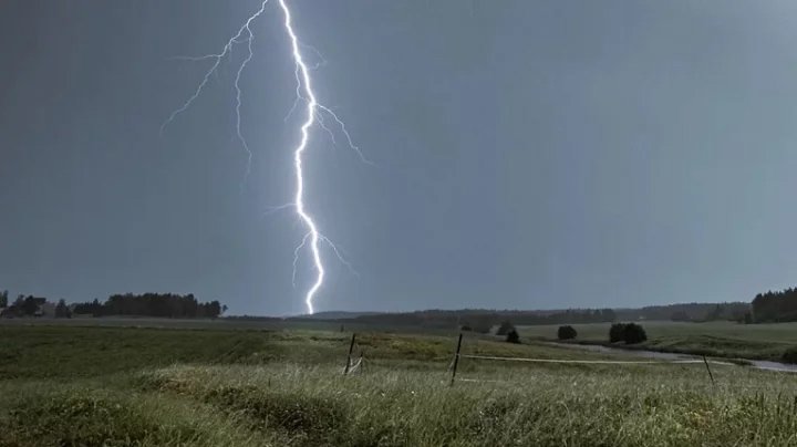
{"label": "long dark tree clump on horizon between the house and the lightning", "polygon": [[100,300],[77,303],[73,312],[77,314],[135,315],[158,316],[168,319],[215,319],[227,311],[226,305],[218,301],[200,303],[193,293],[180,295],[175,293],[115,294],[101,303]]}

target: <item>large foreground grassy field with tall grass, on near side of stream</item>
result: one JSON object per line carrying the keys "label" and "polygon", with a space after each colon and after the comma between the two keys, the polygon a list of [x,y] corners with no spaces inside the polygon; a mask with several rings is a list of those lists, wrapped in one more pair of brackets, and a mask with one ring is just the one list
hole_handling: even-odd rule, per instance
{"label": "large foreground grassy field with tall grass, on near side of stream", "polygon": [[[343,376],[350,335],[0,325],[0,446],[797,444],[795,375],[462,358],[451,386],[456,334],[359,334]],[[622,358],[475,335],[463,353]]]}

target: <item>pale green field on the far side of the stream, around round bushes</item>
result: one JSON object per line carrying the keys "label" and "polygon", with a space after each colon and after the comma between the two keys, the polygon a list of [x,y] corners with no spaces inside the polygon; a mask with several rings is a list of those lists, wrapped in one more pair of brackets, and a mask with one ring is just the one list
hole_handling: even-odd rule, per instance
{"label": "pale green field on the far side of the stream, around round bushes", "polygon": [[[640,322],[648,342],[638,347],[652,351],[704,354],[721,357],[782,361],[786,350],[797,346],[797,323],[737,324],[732,322]],[[610,323],[573,324],[578,341],[605,343]],[[558,325],[522,326],[521,336],[556,340]]]}

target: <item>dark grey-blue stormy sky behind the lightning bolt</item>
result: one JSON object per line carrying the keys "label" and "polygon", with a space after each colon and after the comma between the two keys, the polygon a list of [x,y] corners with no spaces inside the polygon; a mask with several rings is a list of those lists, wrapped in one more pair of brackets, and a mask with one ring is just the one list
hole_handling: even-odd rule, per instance
{"label": "dark grey-blue stormy sky behind the lightning bolt", "polygon": [[[797,282],[791,1],[292,1],[317,93],[317,310],[749,300]],[[298,117],[277,3],[158,135],[257,1],[0,4],[0,289],[194,292],[298,313]],[[308,50],[309,51],[309,50]],[[311,56],[312,59],[312,56]],[[313,62],[317,60],[313,59]],[[340,137],[340,135],[339,135]]]}

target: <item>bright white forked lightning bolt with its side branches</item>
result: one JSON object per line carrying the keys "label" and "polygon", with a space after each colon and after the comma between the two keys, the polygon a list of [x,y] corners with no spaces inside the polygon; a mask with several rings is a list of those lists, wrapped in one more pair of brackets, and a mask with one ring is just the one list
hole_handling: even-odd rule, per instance
{"label": "bright white forked lightning bolt with its side branches", "polygon": [[[334,133],[325,125],[323,121],[323,113],[325,113],[328,116],[330,116],[335,124],[339,126],[340,132],[345,136],[346,143],[351,149],[356,152],[360,159],[364,163],[371,164],[362,154],[360,148],[354,145],[351,135],[349,135],[349,132],[346,131],[345,124],[343,121],[341,121],[338,115],[329,107],[324,106],[323,104],[319,103],[315,93],[312,90],[312,80],[310,76],[310,67],[308,67],[308,64],[304,61],[304,56],[301,52],[302,45],[299,42],[299,39],[297,38],[296,32],[293,31],[293,23],[291,18],[290,9],[288,8],[288,4],[286,3],[286,0],[278,0],[280,9],[282,10],[284,14],[284,29],[286,33],[288,34],[288,38],[290,40],[290,48],[291,48],[291,55],[293,58],[293,64],[294,64],[294,75],[296,75],[296,93],[297,97],[294,100],[293,106],[289,111],[288,115],[296,110],[297,105],[301,102],[306,104],[304,111],[306,111],[306,118],[300,127],[300,134],[301,138],[299,144],[293,149],[293,167],[296,170],[296,196],[294,201],[291,204],[286,204],[280,207],[275,207],[273,210],[279,209],[287,209],[287,208],[293,208],[297,211],[298,217],[302,221],[302,224],[307,227],[307,233],[302,238],[299,246],[297,246],[293,254],[293,273],[292,273],[292,283],[296,287],[296,270],[297,270],[297,263],[299,259],[299,252],[308,245],[310,246],[310,252],[313,261],[313,267],[315,269],[315,281],[312,283],[310,289],[307,291],[307,294],[304,295],[304,304],[307,305],[308,313],[312,314],[314,313],[313,308],[313,299],[318,294],[319,289],[321,289],[321,285],[324,281],[325,270],[323,266],[323,261],[321,258],[321,250],[319,248],[319,243],[321,241],[328,243],[334,254],[345,264],[353,273],[356,274],[356,272],[353,271],[351,264],[343,259],[340,251],[338,250],[338,247],[335,247],[329,238],[323,236],[315,225],[314,219],[312,216],[308,212],[306,206],[304,206],[304,173],[302,170],[302,162],[304,153],[308,148],[309,142],[310,142],[310,129],[318,123],[319,126],[327,131],[327,133],[332,138],[332,143],[337,144],[334,138]],[[220,53],[215,54],[206,54],[196,58],[177,58],[183,60],[190,60],[190,61],[206,61],[211,60],[214,61],[210,69],[205,73],[205,77],[199,83],[199,85],[194,91],[194,94],[188,97],[188,100],[177,110],[172,112],[169,117],[164,122],[163,126],[161,127],[161,131],[172,123],[177,115],[182,114],[183,112],[187,111],[190,105],[194,103],[194,101],[199,97],[203,90],[207,86],[207,83],[210,79],[210,76],[217,71],[219,67],[219,64],[225,58],[228,58],[234,49],[234,46],[238,43],[247,43],[247,50],[248,53],[244,61],[238,66],[238,70],[236,72],[235,77],[235,91],[236,91],[236,136],[238,137],[241,146],[247,153],[247,165],[246,165],[246,173],[244,176],[244,183],[246,183],[250,169],[251,169],[251,159],[252,159],[252,153],[249,148],[249,144],[247,143],[246,138],[244,138],[244,134],[241,133],[241,115],[240,115],[240,106],[241,106],[241,89],[239,86],[241,73],[246,69],[249,61],[251,61],[253,52],[252,52],[252,41],[255,39],[255,34],[251,31],[251,23],[255,19],[260,17],[263,11],[266,10],[266,6],[268,3],[268,0],[265,0],[260,3],[260,9],[256,11],[247,21],[241,25],[241,28],[238,30],[238,33],[234,35],[229,41],[227,41],[227,44],[224,46]],[[312,49],[312,48],[311,48]],[[314,49],[312,49],[314,51]],[[288,119],[288,116],[286,117],[286,121]]]}

